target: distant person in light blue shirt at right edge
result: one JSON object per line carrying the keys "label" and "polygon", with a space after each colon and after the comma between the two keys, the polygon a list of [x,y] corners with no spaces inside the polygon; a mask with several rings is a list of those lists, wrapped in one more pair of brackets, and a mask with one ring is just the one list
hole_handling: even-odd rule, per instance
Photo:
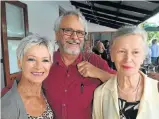
{"label": "distant person in light blue shirt at right edge", "polygon": [[157,44],[157,39],[152,40],[151,52],[152,64],[157,65],[157,58],[159,57],[159,45]]}

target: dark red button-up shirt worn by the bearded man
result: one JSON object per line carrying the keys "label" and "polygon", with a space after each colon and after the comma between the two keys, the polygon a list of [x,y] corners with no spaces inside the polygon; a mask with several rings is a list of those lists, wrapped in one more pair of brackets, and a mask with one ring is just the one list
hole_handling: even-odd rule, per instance
{"label": "dark red button-up shirt worn by the bearded man", "polygon": [[[80,54],[73,64],[66,67],[60,52],[54,54],[54,63],[44,81],[44,89],[55,119],[91,119],[93,93],[101,82],[99,79],[80,75],[77,64],[82,60]],[[107,72],[115,73],[105,60],[93,53],[89,62]]]}

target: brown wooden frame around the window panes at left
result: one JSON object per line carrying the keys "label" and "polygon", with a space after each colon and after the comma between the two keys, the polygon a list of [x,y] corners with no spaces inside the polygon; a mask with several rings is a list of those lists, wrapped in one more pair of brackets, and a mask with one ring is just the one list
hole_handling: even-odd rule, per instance
{"label": "brown wooden frame around the window panes at left", "polygon": [[1,42],[2,42],[2,57],[1,60],[4,68],[4,82],[5,86],[13,83],[14,79],[19,78],[21,72],[10,74],[9,66],[9,50],[8,50],[8,39],[9,40],[21,40],[23,37],[7,37],[7,22],[6,22],[6,3],[18,6],[23,9],[24,17],[24,30],[25,36],[29,33],[28,25],[28,9],[25,3],[20,1],[1,1]]}

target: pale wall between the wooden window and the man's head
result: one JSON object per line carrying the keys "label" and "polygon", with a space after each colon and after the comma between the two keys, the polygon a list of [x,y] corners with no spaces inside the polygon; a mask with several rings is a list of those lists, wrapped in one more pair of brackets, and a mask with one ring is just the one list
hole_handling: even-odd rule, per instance
{"label": "pale wall between the wooden window and the man's head", "polygon": [[59,15],[57,4],[41,1],[22,1],[28,6],[29,32],[38,33],[54,40],[54,21]]}

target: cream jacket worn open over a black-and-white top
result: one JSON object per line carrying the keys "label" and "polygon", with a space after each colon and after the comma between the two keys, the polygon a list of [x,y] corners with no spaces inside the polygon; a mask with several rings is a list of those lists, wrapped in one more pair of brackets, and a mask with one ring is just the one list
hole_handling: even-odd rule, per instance
{"label": "cream jacket worn open over a black-and-white top", "polygon": [[[159,119],[159,92],[157,81],[144,75],[144,92],[136,119]],[[95,90],[93,119],[120,119],[117,93],[117,77]]]}

